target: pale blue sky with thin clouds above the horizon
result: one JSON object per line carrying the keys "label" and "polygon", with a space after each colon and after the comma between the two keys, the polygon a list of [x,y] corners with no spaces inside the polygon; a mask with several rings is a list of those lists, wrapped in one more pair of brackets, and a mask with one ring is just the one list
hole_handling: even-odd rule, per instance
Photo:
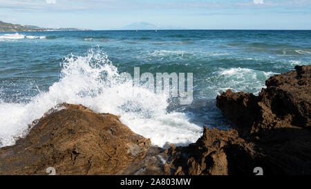
{"label": "pale blue sky with thin clouds above the horizon", "polygon": [[0,0],[0,20],[46,28],[310,30],[311,0]]}

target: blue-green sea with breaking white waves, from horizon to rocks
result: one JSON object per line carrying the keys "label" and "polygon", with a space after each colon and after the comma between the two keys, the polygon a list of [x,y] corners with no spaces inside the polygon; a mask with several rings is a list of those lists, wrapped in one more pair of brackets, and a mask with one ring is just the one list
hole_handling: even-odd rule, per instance
{"label": "blue-green sea with breaking white waves, from horizon to rocks", "polygon": [[[120,115],[153,145],[187,145],[202,125],[230,127],[216,108],[219,93],[258,94],[270,76],[310,64],[310,44],[310,30],[0,33],[0,147],[26,136],[33,120],[62,102]],[[191,105],[117,81],[135,66],[140,73],[193,73]]]}

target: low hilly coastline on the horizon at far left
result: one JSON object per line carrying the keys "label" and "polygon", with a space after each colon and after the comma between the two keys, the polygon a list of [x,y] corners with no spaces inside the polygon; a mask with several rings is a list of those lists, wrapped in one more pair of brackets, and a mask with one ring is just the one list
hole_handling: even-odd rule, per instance
{"label": "low hilly coastline on the horizon at far left", "polygon": [[87,30],[79,28],[40,28],[38,26],[22,26],[20,24],[11,24],[0,21],[0,32],[25,32],[25,31],[77,31]]}

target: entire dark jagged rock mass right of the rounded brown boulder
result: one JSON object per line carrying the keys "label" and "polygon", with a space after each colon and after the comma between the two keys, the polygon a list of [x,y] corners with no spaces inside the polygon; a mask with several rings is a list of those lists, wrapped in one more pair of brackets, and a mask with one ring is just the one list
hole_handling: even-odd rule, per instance
{"label": "entire dark jagged rock mass right of the rounded brown boulder", "polygon": [[311,66],[274,75],[258,96],[227,90],[217,106],[234,129],[205,127],[188,147],[171,146],[175,174],[311,174]]}

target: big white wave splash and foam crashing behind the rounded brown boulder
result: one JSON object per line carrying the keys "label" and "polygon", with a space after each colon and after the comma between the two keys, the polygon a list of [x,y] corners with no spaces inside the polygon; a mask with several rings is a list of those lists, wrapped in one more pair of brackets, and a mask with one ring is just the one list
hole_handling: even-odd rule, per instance
{"label": "big white wave splash and foam crashing behind the rounded brown boulder", "polygon": [[28,103],[0,102],[0,146],[13,145],[17,137],[25,136],[28,124],[62,102],[120,115],[122,123],[151,138],[153,145],[188,144],[200,137],[202,127],[190,123],[186,113],[167,113],[165,94],[133,87],[132,82],[117,82],[118,77],[117,68],[101,51],[67,57],[61,79],[48,92]]}

